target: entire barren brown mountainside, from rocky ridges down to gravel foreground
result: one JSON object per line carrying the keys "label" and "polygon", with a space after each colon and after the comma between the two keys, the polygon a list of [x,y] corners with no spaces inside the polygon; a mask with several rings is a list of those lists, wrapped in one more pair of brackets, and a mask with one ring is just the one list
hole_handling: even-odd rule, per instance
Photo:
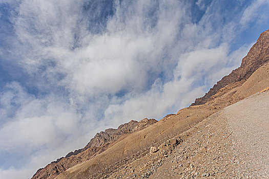
{"label": "entire barren brown mountainside, from rocky ridges down to gravel foreground", "polygon": [[269,30],[204,97],[99,132],[32,178],[268,178]]}

